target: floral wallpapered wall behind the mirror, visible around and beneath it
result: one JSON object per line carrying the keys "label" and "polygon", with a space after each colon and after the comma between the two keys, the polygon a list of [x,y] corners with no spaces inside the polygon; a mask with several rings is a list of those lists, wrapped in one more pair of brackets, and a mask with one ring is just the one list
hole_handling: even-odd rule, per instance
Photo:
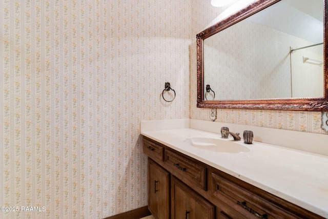
{"label": "floral wallpapered wall behind the mirror, visible around and beneath it", "polygon": [[[202,0],[192,0],[191,36],[218,22],[219,14],[226,14],[228,7],[215,8],[210,1],[204,4]],[[193,39],[193,38],[192,38]],[[191,71],[190,87],[197,86],[197,60],[196,43],[191,46]],[[212,86],[211,86],[212,87]],[[190,90],[190,117],[210,121],[210,109],[197,108],[197,91]],[[269,128],[296,130],[325,134],[321,127],[321,112],[308,111],[274,111],[274,110],[242,110],[242,109],[217,109],[216,122],[236,123],[242,125],[261,126]],[[310,147],[310,146],[309,146]]]}

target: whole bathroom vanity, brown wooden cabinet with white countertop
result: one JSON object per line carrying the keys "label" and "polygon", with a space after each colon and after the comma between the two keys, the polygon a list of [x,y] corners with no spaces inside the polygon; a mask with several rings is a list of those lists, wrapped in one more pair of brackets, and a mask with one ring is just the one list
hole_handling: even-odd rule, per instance
{"label": "whole bathroom vanity, brown wooden cabinet with white countertop", "polygon": [[258,142],[237,142],[239,152],[206,148],[201,139],[229,147],[235,142],[169,126],[149,131],[141,125],[148,207],[155,218],[328,217],[328,177],[320,172],[328,156]]}

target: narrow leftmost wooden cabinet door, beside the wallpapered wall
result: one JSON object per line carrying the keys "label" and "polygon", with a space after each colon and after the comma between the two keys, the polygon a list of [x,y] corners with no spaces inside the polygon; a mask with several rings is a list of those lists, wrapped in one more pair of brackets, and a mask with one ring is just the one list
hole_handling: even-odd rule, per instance
{"label": "narrow leftmost wooden cabinet door, beside the wallpapered wall", "polygon": [[148,208],[157,219],[170,218],[170,173],[148,158]]}

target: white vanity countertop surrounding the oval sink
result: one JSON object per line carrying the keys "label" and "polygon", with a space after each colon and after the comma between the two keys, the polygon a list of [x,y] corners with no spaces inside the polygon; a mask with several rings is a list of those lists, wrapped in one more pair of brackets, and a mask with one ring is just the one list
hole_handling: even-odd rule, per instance
{"label": "white vanity countertop surrounding the oval sink", "polygon": [[220,134],[188,128],[188,125],[174,127],[154,130],[141,125],[141,134],[328,218],[328,156],[255,141],[251,145],[236,142],[248,147],[249,152],[204,150],[193,147],[186,139],[208,137],[232,141],[233,138],[222,139]]}

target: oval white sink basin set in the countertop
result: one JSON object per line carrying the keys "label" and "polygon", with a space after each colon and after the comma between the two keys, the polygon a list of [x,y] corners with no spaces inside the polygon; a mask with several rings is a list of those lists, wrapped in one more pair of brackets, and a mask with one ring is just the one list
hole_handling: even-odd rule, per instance
{"label": "oval white sink basin set in the countertop", "polygon": [[219,138],[191,137],[187,138],[186,142],[193,147],[215,152],[239,153],[251,151],[248,147],[238,144],[233,140],[225,141]]}

